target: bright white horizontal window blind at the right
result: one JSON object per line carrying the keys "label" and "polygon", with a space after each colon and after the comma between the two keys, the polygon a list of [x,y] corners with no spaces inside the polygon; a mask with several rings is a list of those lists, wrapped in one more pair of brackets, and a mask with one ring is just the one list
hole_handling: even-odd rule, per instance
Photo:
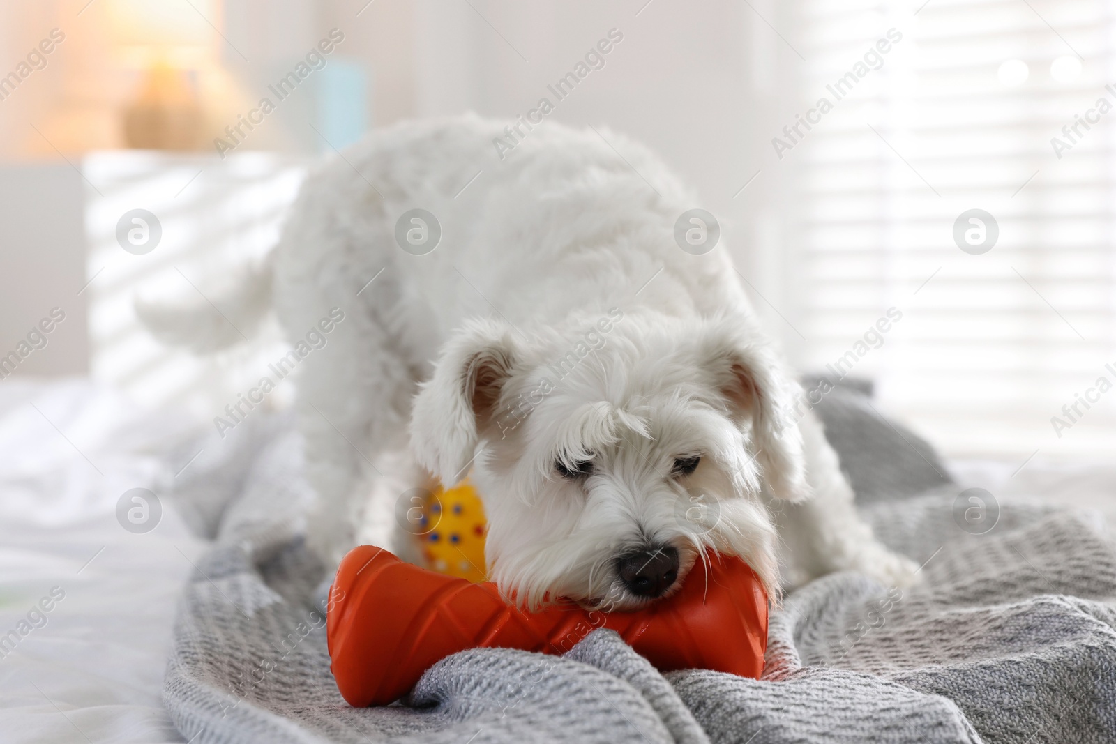
{"label": "bright white horizontal window blind at the right", "polygon": [[[844,358],[839,371],[874,378],[882,405],[949,454],[1110,453],[1116,3],[918,6],[799,4],[798,113],[833,103],[782,153],[801,195],[799,361],[824,369]],[[837,100],[827,86],[855,76],[893,28],[902,39]],[[1095,123],[1075,135],[1078,116]],[[1060,158],[1052,137],[1070,145]],[[981,254],[953,236],[972,209],[999,226]],[[902,319],[884,323],[879,348],[870,334],[857,345],[893,307]]]}

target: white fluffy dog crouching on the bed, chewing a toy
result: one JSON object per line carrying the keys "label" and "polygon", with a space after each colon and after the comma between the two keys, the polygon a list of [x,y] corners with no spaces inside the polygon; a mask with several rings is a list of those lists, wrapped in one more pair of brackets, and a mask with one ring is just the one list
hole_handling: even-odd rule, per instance
{"label": "white fluffy dog crouching on the bed, chewing a toy", "polygon": [[[627,161],[593,131],[520,127],[500,160],[502,123],[408,123],[307,180],[225,312],[248,322],[270,288],[292,338],[346,313],[299,380],[310,544],[330,560],[353,547],[375,518],[374,462],[406,450],[410,426],[413,466],[391,475],[471,474],[490,577],[528,606],[637,608],[712,551],[772,597],[838,569],[907,583],[914,567],[857,516],[724,249],[675,242],[693,195],[608,136]],[[147,316],[180,339],[198,322]]]}

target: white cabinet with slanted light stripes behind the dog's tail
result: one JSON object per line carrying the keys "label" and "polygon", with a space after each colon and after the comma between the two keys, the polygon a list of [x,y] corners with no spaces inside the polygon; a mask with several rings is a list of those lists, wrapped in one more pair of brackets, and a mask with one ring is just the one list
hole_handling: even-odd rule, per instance
{"label": "white cabinet with slanted light stripes behind the dog's tail", "polygon": [[[224,282],[278,240],[305,166],[302,158],[259,152],[221,160],[117,151],[85,158],[83,173],[97,187],[86,206],[94,380],[142,404],[173,403],[211,421],[259,379],[267,363],[286,351],[273,320],[248,342],[196,356],[157,341],[136,317],[134,300],[176,305],[217,298]],[[157,245],[143,254],[117,241],[117,224],[137,209],[155,215],[162,231]],[[288,388],[280,386],[271,397],[283,400],[294,393]]]}

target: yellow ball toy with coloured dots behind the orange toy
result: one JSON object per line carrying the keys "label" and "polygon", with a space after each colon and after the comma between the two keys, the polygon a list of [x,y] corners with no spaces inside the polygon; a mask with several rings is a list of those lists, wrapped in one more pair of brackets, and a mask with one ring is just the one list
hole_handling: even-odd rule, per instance
{"label": "yellow ball toy with coloured dots behind the orange toy", "polygon": [[484,506],[468,479],[452,489],[439,489],[422,505],[416,535],[424,568],[445,576],[484,581]]}

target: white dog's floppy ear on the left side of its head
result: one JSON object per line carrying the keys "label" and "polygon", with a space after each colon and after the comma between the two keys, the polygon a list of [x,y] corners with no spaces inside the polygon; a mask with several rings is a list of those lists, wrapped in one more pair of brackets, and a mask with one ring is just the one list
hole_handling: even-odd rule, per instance
{"label": "white dog's floppy ear on the left side of its head", "polygon": [[442,347],[434,375],[415,396],[411,446],[443,486],[465,475],[514,361],[509,329],[490,320],[470,321]]}

